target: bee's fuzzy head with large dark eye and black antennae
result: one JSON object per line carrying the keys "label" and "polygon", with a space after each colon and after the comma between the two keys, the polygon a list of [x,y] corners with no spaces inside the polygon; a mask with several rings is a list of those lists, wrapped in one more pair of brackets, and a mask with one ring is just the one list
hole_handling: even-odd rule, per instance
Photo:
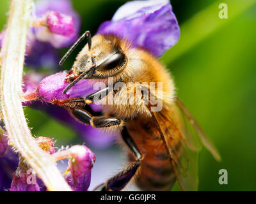
{"label": "bee's fuzzy head with large dark eye and black antennae", "polygon": [[[84,37],[81,36],[81,38]],[[81,38],[68,50],[67,56],[74,50]],[[108,35],[97,35],[91,38],[89,33],[88,46],[84,46],[79,52],[72,66],[74,80],[70,80],[72,83],[66,87],[63,93],[81,79],[102,79],[120,73],[127,64],[127,57],[120,47],[120,41],[120,38]],[[66,55],[61,59],[60,64],[63,64],[63,61],[67,59]]]}

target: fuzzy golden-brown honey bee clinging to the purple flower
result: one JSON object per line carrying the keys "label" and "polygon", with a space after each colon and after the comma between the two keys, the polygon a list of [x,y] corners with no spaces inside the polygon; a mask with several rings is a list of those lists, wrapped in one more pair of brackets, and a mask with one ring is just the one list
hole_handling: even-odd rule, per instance
{"label": "fuzzy golden-brown honey bee clinging to the purple flower", "polygon": [[[94,128],[118,129],[131,161],[125,170],[95,190],[121,191],[131,180],[146,191],[168,191],[176,181],[184,191],[196,190],[195,155],[198,149],[195,138],[186,131],[182,115],[212,156],[217,160],[220,156],[177,98],[170,73],[147,50],[132,47],[124,38],[111,34],[97,34],[91,38],[89,31],[68,50],[60,61],[61,65],[85,37],[88,46],[77,55],[67,75],[70,84],[63,93],[81,79],[90,79],[93,84],[104,82],[108,86],[83,98],[54,100],[52,103],[64,106],[79,122]],[[112,79],[110,82],[109,78]],[[121,87],[113,89],[120,82]],[[134,103],[129,101],[131,96]],[[148,98],[157,103],[153,104]],[[86,107],[90,103],[102,101],[104,116],[95,117],[88,112]],[[156,110],[160,102],[161,107]]]}

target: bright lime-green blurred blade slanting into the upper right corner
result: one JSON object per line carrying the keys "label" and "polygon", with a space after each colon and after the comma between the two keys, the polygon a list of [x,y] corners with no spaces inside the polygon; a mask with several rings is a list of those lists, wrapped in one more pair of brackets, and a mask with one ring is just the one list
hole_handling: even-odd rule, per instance
{"label": "bright lime-green blurred blade slanting into the upper right corner", "polygon": [[228,19],[219,18],[218,8],[223,1],[216,1],[204,10],[196,13],[192,18],[180,25],[180,41],[166,52],[161,59],[164,62],[170,63],[173,59],[184,54],[190,48],[195,46],[207,36],[214,33],[221,26],[227,24],[230,20],[237,17],[248,8],[255,5],[255,0],[232,0],[227,1]]}

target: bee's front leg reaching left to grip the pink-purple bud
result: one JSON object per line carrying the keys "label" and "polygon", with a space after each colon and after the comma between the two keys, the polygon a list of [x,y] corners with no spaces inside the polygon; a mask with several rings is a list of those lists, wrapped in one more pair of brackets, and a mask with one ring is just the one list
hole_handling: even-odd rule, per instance
{"label": "bee's front leg reaching left to grip the pink-purple bud", "polygon": [[76,108],[81,107],[83,108],[86,105],[90,105],[91,103],[95,103],[99,101],[100,99],[106,97],[109,93],[111,88],[106,87],[104,89],[100,89],[99,91],[93,92],[92,94],[89,94],[88,96],[83,97],[77,97],[77,98],[68,98],[63,100],[57,100],[53,99],[52,104],[60,105],[67,108]]}

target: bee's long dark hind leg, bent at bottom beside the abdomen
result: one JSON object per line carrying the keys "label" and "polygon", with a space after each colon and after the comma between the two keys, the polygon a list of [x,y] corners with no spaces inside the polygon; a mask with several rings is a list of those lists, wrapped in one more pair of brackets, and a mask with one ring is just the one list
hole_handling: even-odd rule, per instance
{"label": "bee's long dark hind leg, bent at bottom beside the abdomen", "polygon": [[122,138],[136,157],[136,161],[129,164],[129,166],[125,168],[125,170],[121,171],[120,173],[109,179],[106,183],[100,184],[93,191],[121,191],[122,189],[124,189],[125,186],[127,186],[129,181],[138,171],[143,157],[141,156],[140,150],[134,143],[134,140],[129,135],[127,128],[125,127],[122,131]]}

